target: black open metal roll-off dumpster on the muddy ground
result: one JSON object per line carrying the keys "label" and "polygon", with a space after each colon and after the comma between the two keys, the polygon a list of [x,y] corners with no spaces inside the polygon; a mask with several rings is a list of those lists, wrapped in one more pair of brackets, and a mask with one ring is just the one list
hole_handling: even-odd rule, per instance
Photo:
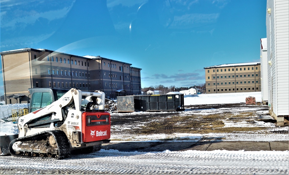
{"label": "black open metal roll-off dumpster on the muddy ground", "polygon": [[129,95],[117,97],[118,112],[184,110],[184,94]]}

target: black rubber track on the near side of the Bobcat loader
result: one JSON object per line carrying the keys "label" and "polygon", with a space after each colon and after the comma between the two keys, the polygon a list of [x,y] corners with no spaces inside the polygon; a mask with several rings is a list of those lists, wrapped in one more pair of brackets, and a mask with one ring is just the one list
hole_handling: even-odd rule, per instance
{"label": "black rubber track on the near side of the Bobcat loader", "polygon": [[[30,154],[29,155],[16,154],[12,148],[15,142],[35,141],[35,140],[42,140],[42,139],[46,140],[50,135],[54,137],[56,144],[58,146],[57,157],[40,157],[39,154],[37,154],[37,156],[32,156]],[[9,152],[12,156],[15,156],[15,157],[26,157],[26,158],[36,158],[36,159],[65,159],[70,156],[70,144],[69,144],[68,138],[66,137],[66,134],[61,130],[43,131],[37,134],[20,137],[20,138],[12,140],[9,144]]]}

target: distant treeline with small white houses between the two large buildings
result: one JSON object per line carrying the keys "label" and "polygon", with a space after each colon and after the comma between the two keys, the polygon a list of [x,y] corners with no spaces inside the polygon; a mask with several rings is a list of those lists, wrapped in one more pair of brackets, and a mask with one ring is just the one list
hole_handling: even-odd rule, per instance
{"label": "distant treeline with small white houses between the two large buildings", "polygon": [[194,85],[194,86],[190,86],[190,87],[175,87],[175,85],[165,87],[164,85],[155,85],[155,86],[142,88],[142,92],[147,92],[149,90],[160,90],[160,91],[162,91],[160,94],[166,94],[168,92],[179,92],[179,91],[183,91],[183,90],[188,90],[190,88],[203,90],[204,88],[206,88],[206,84],[204,83],[204,84]]}

